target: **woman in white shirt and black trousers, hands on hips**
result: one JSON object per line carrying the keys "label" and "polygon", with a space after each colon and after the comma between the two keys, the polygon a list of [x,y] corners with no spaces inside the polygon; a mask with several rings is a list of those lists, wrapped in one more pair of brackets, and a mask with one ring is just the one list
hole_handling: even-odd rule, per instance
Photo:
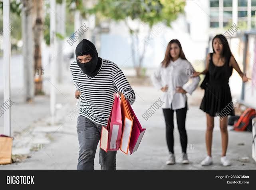
{"label": "woman in white shirt and black trousers, hands on hips", "polygon": [[[186,59],[181,43],[177,39],[169,42],[165,58],[152,76],[152,81],[157,89],[163,91],[163,114],[166,124],[166,140],[170,157],[167,164],[175,164],[174,139],[173,139],[173,112],[176,111],[177,125],[182,147],[182,163],[188,164],[187,156],[187,132],[185,129],[187,114],[186,93],[192,92],[198,86],[199,77],[193,76],[194,68]],[[191,78],[192,82],[188,83]]]}

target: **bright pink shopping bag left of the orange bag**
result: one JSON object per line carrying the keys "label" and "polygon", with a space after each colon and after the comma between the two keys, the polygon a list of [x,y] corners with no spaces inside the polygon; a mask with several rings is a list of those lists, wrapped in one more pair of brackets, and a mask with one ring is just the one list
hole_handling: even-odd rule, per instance
{"label": "bright pink shopping bag left of the orange bag", "polygon": [[119,150],[122,137],[122,114],[119,95],[115,96],[114,103],[106,127],[102,126],[100,147],[104,151]]}

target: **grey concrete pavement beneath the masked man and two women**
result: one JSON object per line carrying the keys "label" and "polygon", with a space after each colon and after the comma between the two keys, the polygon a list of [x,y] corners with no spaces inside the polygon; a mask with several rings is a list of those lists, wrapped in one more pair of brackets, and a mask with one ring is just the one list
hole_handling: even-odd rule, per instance
{"label": "grey concrete pavement beneath the masked man and two women", "polygon": [[[60,87],[61,88],[61,87]],[[202,91],[198,89],[189,97],[189,111],[187,114],[186,128],[188,133],[188,155],[191,164],[181,165],[181,146],[179,132],[175,121],[175,153],[178,163],[166,165],[168,158],[165,140],[165,123],[162,110],[159,109],[151,118],[145,120],[141,115],[159,97],[161,92],[153,87],[133,86],[136,93],[136,101],[132,105],[143,128],[147,128],[139,149],[132,155],[125,155],[121,151],[117,153],[117,169],[256,169],[256,163],[251,158],[252,134],[249,132],[229,132],[229,145],[227,156],[232,161],[232,166],[223,167],[220,164],[221,139],[218,119],[215,118],[212,157],[214,164],[202,167],[200,162],[206,156],[204,132],[206,117],[204,112],[198,109],[198,100],[202,97]],[[59,89],[61,92],[64,89]],[[73,90],[73,89],[72,89]],[[67,91],[67,90],[66,90]],[[65,95],[65,94],[64,94]],[[49,141],[40,140],[33,142],[39,145],[38,151],[30,151],[31,158],[21,163],[2,165],[0,169],[76,169],[79,145],[76,133],[77,107],[76,100],[71,93],[67,96],[65,109],[60,109],[60,124],[49,126],[44,120],[26,134],[29,138],[48,136]],[[65,99],[64,99],[65,101]],[[24,113],[22,113],[24,114]],[[14,140],[15,143],[15,140]],[[249,157],[249,162],[240,161],[242,157]],[[95,169],[100,169],[99,146],[95,156]]]}

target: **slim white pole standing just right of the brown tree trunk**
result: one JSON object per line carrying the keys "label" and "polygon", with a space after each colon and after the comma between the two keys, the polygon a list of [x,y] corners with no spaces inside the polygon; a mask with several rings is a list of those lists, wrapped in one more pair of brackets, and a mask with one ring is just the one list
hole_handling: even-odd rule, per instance
{"label": "slim white pole standing just right of the brown tree trunk", "polygon": [[50,45],[51,45],[51,94],[50,94],[50,110],[52,125],[55,123],[55,104],[56,104],[56,0],[50,1]]}

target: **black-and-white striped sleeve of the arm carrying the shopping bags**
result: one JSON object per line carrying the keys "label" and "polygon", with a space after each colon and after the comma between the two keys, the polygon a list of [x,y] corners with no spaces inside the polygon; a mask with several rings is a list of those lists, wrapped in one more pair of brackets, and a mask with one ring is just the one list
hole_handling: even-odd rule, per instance
{"label": "black-and-white striped sleeve of the arm carrying the shopping bags", "polygon": [[114,75],[113,84],[119,92],[123,93],[125,99],[127,99],[130,105],[135,102],[135,93],[121,69],[119,69]]}

